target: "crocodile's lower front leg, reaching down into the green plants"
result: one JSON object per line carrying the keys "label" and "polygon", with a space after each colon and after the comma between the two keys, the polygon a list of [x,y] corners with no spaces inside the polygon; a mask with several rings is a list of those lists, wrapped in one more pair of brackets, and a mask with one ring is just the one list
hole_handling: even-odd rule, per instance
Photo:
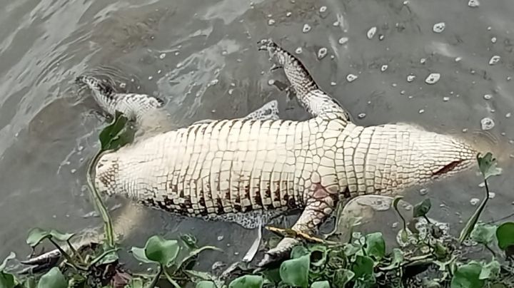
{"label": "crocodile's lower front leg, reaching down into the green plants", "polygon": [[[298,218],[292,229],[307,234],[316,232],[318,226],[332,214],[334,207],[336,207],[338,199],[336,187],[336,185],[323,186],[321,183],[313,185],[311,196],[306,202],[305,210],[303,210],[300,218]],[[299,241],[294,238],[283,238],[281,242],[278,242],[275,248],[268,250],[268,252],[264,254],[258,266],[263,267],[287,257],[291,249],[298,244]]]}

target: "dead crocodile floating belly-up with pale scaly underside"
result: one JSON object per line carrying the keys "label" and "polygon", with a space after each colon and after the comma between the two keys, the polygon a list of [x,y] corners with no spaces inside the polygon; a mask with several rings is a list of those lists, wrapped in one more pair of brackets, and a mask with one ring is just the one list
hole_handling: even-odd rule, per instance
{"label": "dead crocodile floating belly-up with pale scaly underside", "polygon": [[[263,106],[268,113],[205,120],[141,138],[101,155],[96,188],[144,206],[249,229],[299,209],[291,228],[316,233],[339,202],[397,195],[475,164],[478,150],[453,135],[407,123],[357,125],[296,56],[271,38],[259,41],[258,50],[267,51],[271,71],[282,69],[310,118],[283,120],[271,103],[271,109]],[[117,94],[94,80],[77,78],[111,114],[120,110],[141,120],[163,106],[153,96]],[[297,244],[284,237],[258,266],[282,259]]]}

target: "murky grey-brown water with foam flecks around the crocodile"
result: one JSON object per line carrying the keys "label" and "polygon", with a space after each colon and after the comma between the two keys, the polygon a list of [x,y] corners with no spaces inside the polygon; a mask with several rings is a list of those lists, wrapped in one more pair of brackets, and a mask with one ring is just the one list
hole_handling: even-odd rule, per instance
{"label": "murky grey-brown water with foam flecks around the crocodile", "polygon": [[[0,257],[11,250],[29,254],[24,240],[31,227],[79,231],[99,224],[84,217],[93,209],[84,185],[106,119],[90,93],[74,85],[75,76],[94,73],[120,91],[166,98],[175,125],[240,117],[272,99],[282,118],[305,119],[275,87],[285,82],[283,74],[269,73],[265,53],[257,51],[256,42],[267,36],[301,51],[313,78],[361,125],[409,122],[491,139],[504,173],[491,180],[496,195],[483,219],[514,212],[510,0],[480,1],[475,8],[446,0],[4,0],[2,7]],[[438,23],[445,27],[435,33]],[[327,55],[319,59],[322,48]],[[490,65],[493,56],[500,58]],[[425,82],[431,73],[440,74],[436,83]],[[348,74],[358,77],[348,81]],[[481,132],[486,117],[495,125]],[[470,171],[428,185],[423,194],[433,199],[434,217],[451,217],[461,227],[458,221],[475,208],[470,199],[483,195],[479,184]],[[405,199],[420,199],[419,189]],[[223,247],[225,253],[211,253],[212,259],[228,260],[241,259],[257,235],[230,223],[146,214],[126,245],[143,246],[153,233],[193,232],[201,245]]]}

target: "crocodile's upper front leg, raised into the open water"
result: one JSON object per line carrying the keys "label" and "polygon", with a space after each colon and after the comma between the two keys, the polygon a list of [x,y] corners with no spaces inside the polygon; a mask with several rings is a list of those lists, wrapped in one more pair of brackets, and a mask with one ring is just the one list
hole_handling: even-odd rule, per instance
{"label": "crocodile's upper front leg, raised into the open water", "polygon": [[271,38],[263,39],[258,44],[260,45],[258,50],[268,51],[270,60],[273,62],[272,71],[283,68],[296,98],[309,114],[316,117],[326,113],[337,113],[343,120],[352,120],[350,113],[335,98],[318,87],[296,56],[278,46]]}

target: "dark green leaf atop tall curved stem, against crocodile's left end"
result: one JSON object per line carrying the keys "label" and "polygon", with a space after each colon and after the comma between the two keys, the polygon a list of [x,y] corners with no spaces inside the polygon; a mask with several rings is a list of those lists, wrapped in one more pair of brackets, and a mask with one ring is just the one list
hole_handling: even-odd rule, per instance
{"label": "dark green leaf atop tall curved stem, against crocodile's left end", "polygon": [[117,150],[133,141],[135,130],[129,128],[129,119],[123,113],[116,111],[114,121],[104,128],[99,136],[101,150]]}

